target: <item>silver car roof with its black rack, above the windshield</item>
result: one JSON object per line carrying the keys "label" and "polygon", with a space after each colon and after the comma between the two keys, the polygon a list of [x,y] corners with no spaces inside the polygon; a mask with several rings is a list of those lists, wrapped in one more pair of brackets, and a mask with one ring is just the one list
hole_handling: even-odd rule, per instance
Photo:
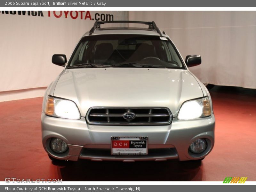
{"label": "silver car roof with its black rack, above the windshield", "polygon": [[[111,27],[111,28],[101,28],[102,24],[105,23],[142,23],[147,24],[148,28],[130,28],[130,27]],[[164,36],[169,37],[165,32],[160,31],[156,26],[155,22],[144,22],[144,21],[96,21],[90,31],[87,31],[84,36],[94,36],[94,35],[110,35],[110,34],[136,34],[136,35],[154,35],[154,36]]]}

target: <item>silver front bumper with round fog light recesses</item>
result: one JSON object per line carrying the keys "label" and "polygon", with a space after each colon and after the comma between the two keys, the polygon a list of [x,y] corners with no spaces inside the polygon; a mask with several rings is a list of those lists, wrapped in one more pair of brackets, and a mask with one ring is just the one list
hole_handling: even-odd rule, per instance
{"label": "silver front bumper with round fog light recesses", "polygon": [[[86,124],[85,118],[80,120],[62,119],[46,116],[42,112],[42,140],[46,152],[56,158],[77,161],[91,159],[93,161],[164,161],[179,159],[180,161],[201,159],[208,155],[214,145],[215,117],[178,120],[173,118],[170,125],[157,126],[110,126]],[[147,156],[111,156],[110,138],[112,136],[147,136]],[[56,154],[50,148],[51,138],[56,137],[68,144],[68,151]],[[192,154],[188,148],[198,138],[205,138],[207,148],[200,155]]]}

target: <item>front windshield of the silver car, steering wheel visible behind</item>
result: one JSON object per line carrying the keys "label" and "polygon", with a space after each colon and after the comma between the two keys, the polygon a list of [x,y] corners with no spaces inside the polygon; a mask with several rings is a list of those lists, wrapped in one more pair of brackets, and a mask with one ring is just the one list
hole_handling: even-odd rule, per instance
{"label": "front windshield of the silver car, steering wheel visible behind", "polygon": [[67,68],[84,67],[184,68],[166,37],[129,34],[82,38]]}

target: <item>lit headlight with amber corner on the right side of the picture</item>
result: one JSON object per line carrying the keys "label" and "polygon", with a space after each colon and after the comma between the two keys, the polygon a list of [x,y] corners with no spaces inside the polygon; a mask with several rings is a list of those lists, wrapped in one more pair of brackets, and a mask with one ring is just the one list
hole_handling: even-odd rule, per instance
{"label": "lit headlight with amber corner on the right side of the picture", "polygon": [[196,119],[211,116],[212,110],[209,97],[186,101],[182,104],[178,114],[179,120]]}

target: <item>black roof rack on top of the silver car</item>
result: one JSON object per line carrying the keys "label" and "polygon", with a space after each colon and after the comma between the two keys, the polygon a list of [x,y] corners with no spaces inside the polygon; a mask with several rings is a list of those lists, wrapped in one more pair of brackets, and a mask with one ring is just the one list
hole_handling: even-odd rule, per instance
{"label": "black roof rack on top of the silver car", "polygon": [[105,23],[140,23],[140,24],[145,24],[148,25],[148,29],[156,29],[157,33],[162,36],[162,32],[160,29],[156,26],[155,21],[95,21],[93,27],[91,28],[89,35],[92,35],[94,33],[96,28],[100,29],[100,25],[105,24]]}

